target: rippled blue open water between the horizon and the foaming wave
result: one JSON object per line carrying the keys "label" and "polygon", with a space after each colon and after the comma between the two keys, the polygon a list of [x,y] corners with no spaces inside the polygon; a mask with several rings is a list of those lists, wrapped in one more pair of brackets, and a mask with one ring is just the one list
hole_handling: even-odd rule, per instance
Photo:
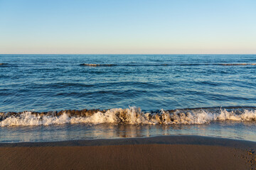
{"label": "rippled blue open water between the horizon and the foaming wave", "polygon": [[256,55],[0,55],[0,63],[0,111],[256,106],[256,65],[216,65]]}

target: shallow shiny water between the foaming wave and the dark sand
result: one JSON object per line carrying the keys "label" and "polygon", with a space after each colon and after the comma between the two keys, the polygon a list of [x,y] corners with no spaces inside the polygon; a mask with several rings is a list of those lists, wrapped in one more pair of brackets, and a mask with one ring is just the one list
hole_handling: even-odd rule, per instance
{"label": "shallow shiny water between the foaming wave and the dark sand", "polygon": [[201,135],[256,141],[256,125],[254,122],[228,121],[203,125],[85,125],[80,123],[0,128],[0,142],[49,142],[159,135]]}

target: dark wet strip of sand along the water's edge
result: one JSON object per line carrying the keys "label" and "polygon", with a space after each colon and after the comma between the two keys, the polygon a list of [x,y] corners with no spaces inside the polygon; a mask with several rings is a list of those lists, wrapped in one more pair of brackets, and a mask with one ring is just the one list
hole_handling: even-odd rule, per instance
{"label": "dark wet strip of sand along the water's edge", "polygon": [[160,135],[152,137],[123,137],[111,139],[65,140],[52,142],[0,142],[0,147],[74,147],[102,145],[216,145],[247,149],[255,147],[256,142],[224,137],[201,135]]}

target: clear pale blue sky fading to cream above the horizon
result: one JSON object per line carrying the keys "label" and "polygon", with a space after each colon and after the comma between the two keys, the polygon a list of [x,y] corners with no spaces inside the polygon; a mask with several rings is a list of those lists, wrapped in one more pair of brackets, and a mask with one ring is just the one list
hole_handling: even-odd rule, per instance
{"label": "clear pale blue sky fading to cream above the horizon", "polygon": [[256,54],[256,1],[0,0],[0,54]]}

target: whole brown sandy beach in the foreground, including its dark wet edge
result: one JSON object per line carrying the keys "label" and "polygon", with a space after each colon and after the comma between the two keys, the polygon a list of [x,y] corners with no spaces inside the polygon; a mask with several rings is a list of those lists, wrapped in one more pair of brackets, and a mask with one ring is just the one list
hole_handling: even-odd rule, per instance
{"label": "whole brown sandy beach in the foreground, including its dark wet edge", "polygon": [[0,144],[0,169],[255,169],[256,142],[200,136]]}

